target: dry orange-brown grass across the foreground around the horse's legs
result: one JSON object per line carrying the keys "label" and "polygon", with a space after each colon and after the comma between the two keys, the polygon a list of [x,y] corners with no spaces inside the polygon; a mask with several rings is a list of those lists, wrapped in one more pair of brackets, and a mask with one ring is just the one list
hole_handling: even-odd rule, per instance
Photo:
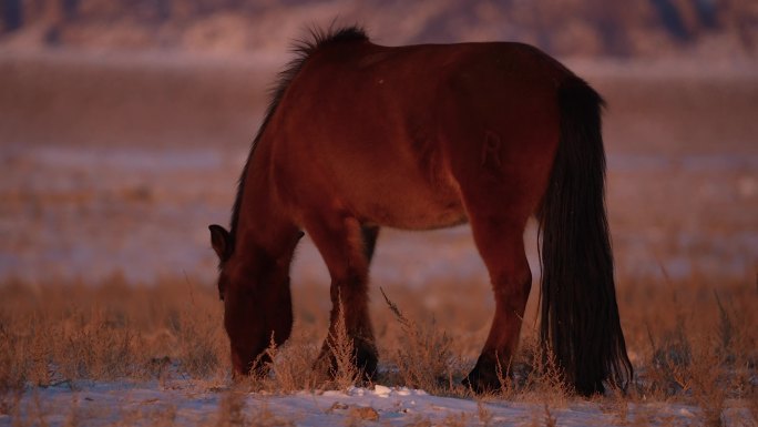
{"label": "dry orange-brown grass across the foreground around the horse's legs", "polygon": [[[239,407],[244,405],[239,396],[249,388],[278,394],[345,389],[358,382],[358,373],[345,368],[325,385],[313,369],[327,326],[327,313],[315,315],[321,291],[326,289],[296,289],[294,338],[269,348],[269,376],[224,395],[217,425],[291,424],[265,407],[255,413],[255,421],[244,418],[250,417],[250,411]],[[454,295],[444,287],[438,291]],[[381,362],[377,380],[470,398],[459,382],[473,364],[475,352],[467,339],[459,338],[471,331],[440,312],[418,306],[414,302],[423,299],[420,291],[388,286],[387,295],[403,295],[398,301],[408,311],[389,297],[375,302]],[[607,411],[628,425],[649,425],[660,419],[655,411],[641,409],[645,404],[677,401],[699,407],[704,426],[726,425],[726,410],[735,405],[756,417],[758,294],[751,284],[721,283],[716,294],[713,286],[694,281],[635,283],[619,288],[619,302],[637,377],[626,393],[611,390],[596,398]],[[444,321],[423,321],[436,316]],[[215,289],[186,281],[166,279],[152,287],[134,287],[117,279],[99,286],[6,282],[0,286],[0,410],[18,413],[27,386],[65,383],[75,388],[81,380],[115,378],[228,383],[221,318]],[[337,335],[334,350],[350,357],[351,349],[341,348],[349,339]],[[545,408],[535,415],[536,425],[553,425],[554,408],[565,407],[574,397],[561,384],[550,355],[540,354],[534,332],[525,327],[522,335],[513,366],[515,379],[503,378],[500,393],[482,398],[535,404]],[[30,409],[40,419],[44,417],[44,405],[25,408]],[[76,425],[80,416],[72,409],[71,425]],[[489,423],[481,406],[479,414],[462,417],[470,419],[453,416],[445,423],[462,425],[474,418]],[[171,417],[164,421],[171,425]],[[419,423],[424,425],[424,419]]]}

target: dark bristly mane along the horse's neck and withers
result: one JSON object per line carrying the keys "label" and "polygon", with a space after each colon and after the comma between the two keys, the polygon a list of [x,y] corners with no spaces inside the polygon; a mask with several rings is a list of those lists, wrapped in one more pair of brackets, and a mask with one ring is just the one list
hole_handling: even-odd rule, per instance
{"label": "dark bristly mane along the horse's neck and withers", "polygon": [[368,41],[369,38],[366,31],[358,26],[340,27],[335,28],[329,27],[329,29],[324,30],[317,27],[311,27],[308,29],[308,37],[304,39],[295,40],[291,44],[291,53],[295,58],[290,60],[285,68],[277,74],[277,79],[269,89],[270,101],[266,108],[266,114],[264,115],[263,123],[256,133],[253,144],[250,145],[250,152],[247,156],[247,162],[245,167],[243,167],[242,175],[239,176],[239,183],[237,185],[237,196],[234,201],[234,207],[232,210],[232,224],[229,234],[234,238],[236,236],[237,223],[239,222],[239,210],[242,209],[242,199],[245,191],[245,176],[247,175],[247,167],[252,163],[252,159],[255,155],[255,148],[258,145],[258,141],[266,130],[266,125],[276,112],[276,108],[284,98],[285,92],[289,83],[295,80],[303,64],[308,60],[308,58],[327,44],[341,43],[348,41]]}

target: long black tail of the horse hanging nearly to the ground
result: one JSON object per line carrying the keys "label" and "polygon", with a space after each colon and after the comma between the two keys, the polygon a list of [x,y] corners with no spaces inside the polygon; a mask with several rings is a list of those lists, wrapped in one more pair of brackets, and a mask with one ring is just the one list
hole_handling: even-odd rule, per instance
{"label": "long black tail of the horse hanging nearly to the ground", "polygon": [[557,90],[561,138],[540,210],[541,338],[583,395],[626,388],[633,370],[618,319],[605,212],[603,99],[572,77]]}

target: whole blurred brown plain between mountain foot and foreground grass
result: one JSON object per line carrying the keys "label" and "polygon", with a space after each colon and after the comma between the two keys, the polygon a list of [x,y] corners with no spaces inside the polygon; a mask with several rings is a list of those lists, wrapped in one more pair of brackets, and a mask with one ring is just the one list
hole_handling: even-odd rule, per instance
{"label": "whole blurred brown plain between mountain foot and foreground grass", "polygon": [[[211,282],[281,55],[0,51],[0,277]],[[758,67],[568,61],[608,102],[622,281],[755,282]],[[534,231],[527,232],[539,270]],[[468,227],[380,237],[375,282],[486,283]],[[326,282],[306,242],[296,281]]]}

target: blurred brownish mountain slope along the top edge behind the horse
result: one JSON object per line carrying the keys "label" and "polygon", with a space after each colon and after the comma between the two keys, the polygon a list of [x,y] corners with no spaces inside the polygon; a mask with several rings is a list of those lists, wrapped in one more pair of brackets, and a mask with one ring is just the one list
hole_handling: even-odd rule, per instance
{"label": "blurred brownish mountain slope along the top edge behind the horse", "polygon": [[1,0],[0,45],[284,51],[308,24],[383,44],[518,40],[562,57],[756,58],[756,0]]}

